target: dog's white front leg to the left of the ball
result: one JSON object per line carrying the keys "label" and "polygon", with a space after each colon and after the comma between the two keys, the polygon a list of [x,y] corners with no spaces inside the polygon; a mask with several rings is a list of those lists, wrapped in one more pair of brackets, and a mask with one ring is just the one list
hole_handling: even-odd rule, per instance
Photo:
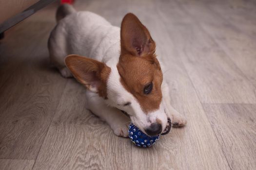
{"label": "dog's white front leg to the left of the ball", "polygon": [[117,108],[107,106],[104,99],[99,97],[98,94],[89,90],[86,91],[86,108],[106,121],[114,131],[114,134],[128,137],[128,126],[131,122],[130,118],[125,116]]}

